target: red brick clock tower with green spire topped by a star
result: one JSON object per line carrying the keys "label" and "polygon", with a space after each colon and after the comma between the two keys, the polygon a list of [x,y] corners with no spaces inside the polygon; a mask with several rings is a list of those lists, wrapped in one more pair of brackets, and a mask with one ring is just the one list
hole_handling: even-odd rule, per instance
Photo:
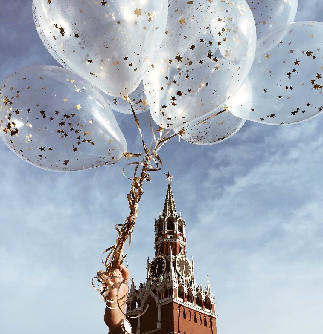
{"label": "red brick clock tower with green spire topped by a star", "polygon": [[172,176],[166,176],[165,205],[154,224],[155,256],[151,262],[148,257],[146,281],[138,289],[131,285],[126,315],[134,334],[217,334],[209,278],[206,289],[196,285],[193,257],[186,257],[186,224],[176,211]]}

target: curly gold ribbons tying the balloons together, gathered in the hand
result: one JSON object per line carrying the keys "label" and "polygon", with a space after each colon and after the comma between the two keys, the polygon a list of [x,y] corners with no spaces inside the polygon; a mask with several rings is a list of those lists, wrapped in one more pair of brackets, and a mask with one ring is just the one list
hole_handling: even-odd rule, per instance
{"label": "curly gold ribbons tying the balloons together, gathered in the hand", "polygon": [[[115,271],[115,269],[120,268],[121,263],[124,261],[124,259],[126,258],[127,254],[123,253],[123,249],[124,246],[129,238],[129,247],[131,245],[131,234],[133,232],[134,226],[135,226],[135,221],[136,218],[138,216],[138,203],[140,201],[141,195],[143,194],[143,188],[142,188],[142,184],[143,181],[151,181],[151,178],[149,176],[150,172],[153,171],[157,171],[160,170],[163,167],[163,162],[161,161],[160,156],[158,155],[158,151],[161,147],[163,147],[170,139],[172,139],[175,136],[182,136],[183,133],[185,131],[187,131],[188,129],[184,130],[181,129],[179,132],[169,136],[170,131],[168,130],[164,135],[163,133],[165,132],[165,129],[159,127],[156,131],[154,131],[152,124],[151,124],[151,120],[149,117],[149,114],[147,112],[147,117],[148,117],[148,121],[149,121],[149,126],[151,129],[151,133],[152,133],[152,141],[149,145],[149,147],[147,148],[145,141],[143,139],[142,136],[142,132],[141,132],[141,128],[140,128],[140,124],[137,118],[137,115],[133,109],[132,106],[132,102],[130,101],[129,97],[124,97],[124,100],[128,101],[130,103],[131,106],[131,111],[134,117],[134,120],[136,122],[137,125],[137,129],[139,131],[140,137],[141,137],[141,142],[142,142],[142,147],[144,149],[143,153],[125,153],[124,156],[125,158],[128,160],[130,158],[133,157],[143,157],[141,161],[139,162],[130,162],[128,164],[126,164],[124,166],[124,168],[122,169],[122,173],[124,176],[125,175],[125,168],[127,166],[134,166],[134,173],[133,173],[133,177],[132,178],[128,178],[129,180],[132,181],[132,185],[131,185],[131,189],[129,194],[127,194],[127,199],[128,199],[128,203],[129,203],[129,208],[130,208],[130,214],[129,216],[125,219],[125,223],[124,224],[116,224],[115,225],[115,229],[118,232],[118,235],[116,237],[116,242],[113,246],[107,248],[103,254],[102,254],[102,264],[105,266],[105,271],[100,270],[97,274],[96,277],[94,277],[92,279],[92,286],[95,290],[97,290],[99,292],[100,298],[103,299],[103,301],[105,301],[106,307],[111,308],[111,309],[116,309],[112,308],[110,306],[108,306],[108,304],[110,303],[114,303],[115,300],[111,300],[109,299],[107,296],[109,295],[109,293],[113,290],[113,289],[117,289],[117,293],[116,293],[116,302],[117,302],[117,306],[120,309],[120,311],[125,315],[125,313],[122,311],[121,307],[120,307],[120,300],[123,300],[125,296],[122,296],[121,298],[119,297],[119,289],[121,287],[122,284],[126,284],[125,281],[127,281],[128,279],[124,279],[119,285],[118,287],[112,282],[112,279],[118,278],[116,276],[113,276],[113,273]],[[141,101],[141,100],[140,100]],[[136,104],[140,103],[137,102]],[[208,121],[209,119],[220,115],[223,112],[227,112],[227,107],[224,107],[224,109],[218,113],[215,113],[213,115],[211,115],[210,117],[202,120],[199,123],[196,123],[195,125],[199,125],[205,121]],[[194,126],[195,126],[194,125]],[[155,132],[159,133],[158,138],[156,138],[155,136]],[[155,143],[155,145],[153,146],[153,143]],[[153,146],[153,148],[152,148]],[[139,174],[139,167],[141,167],[141,171]],[[105,260],[104,258],[105,257]],[[94,280],[97,280],[99,287],[96,287],[94,284]],[[133,280],[130,280],[133,282]],[[134,284],[134,282],[133,282]],[[125,303],[127,302],[127,300],[121,305],[123,306]],[[135,317],[130,317],[130,318],[138,318],[140,316],[142,316],[148,309],[149,304],[147,304],[145,310],[139,314],[138,316]],[[127,317],[129,317],[127,315]]]}

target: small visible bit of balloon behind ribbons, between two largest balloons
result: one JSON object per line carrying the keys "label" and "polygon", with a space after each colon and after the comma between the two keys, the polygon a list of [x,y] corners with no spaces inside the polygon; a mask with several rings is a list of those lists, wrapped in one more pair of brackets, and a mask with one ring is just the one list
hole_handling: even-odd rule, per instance
{"label": "small visible bit of balloon behind ribbons, between two largest balloons", "polygon": [[[132,115],[130,104],[126,101],[126,99],[112,97],[107,94],[105,94],[104,96],[113,111],[117,111],[122,114]],[[133,103],[132,107],[136,114],[141,114],[145,111],[149,111],[148,101],[142,81],[140,82],[138,88],[129,95],[129,98]]]}

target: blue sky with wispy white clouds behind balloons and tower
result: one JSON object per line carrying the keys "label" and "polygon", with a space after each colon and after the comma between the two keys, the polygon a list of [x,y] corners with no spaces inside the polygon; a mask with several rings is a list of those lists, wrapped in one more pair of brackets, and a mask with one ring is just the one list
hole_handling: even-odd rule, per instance
{"label": "blue sky with wispy white clouds behind balloons and tower", "polygon": [[[296,20],[323,21],[323,2],[300,0]],[[1,0],[0,76],[57,65],[34,28],[31,1]],[[117,114],[129,152],[131,116]],[[144,115],[139,115],[149,137]],[[323,118],[284,127],[247,121],[212,146],[172,142],[163,170],[143,187],[127,256],[135,284],[154,256],[154,218],[174,176],[197,283],[210,276],[219,334],[321,333],[323,320]],[[0,332],[106,333],[91,286],[114,225],[128,215],[126,160],[74,173],[36,168],[0,142]]]}

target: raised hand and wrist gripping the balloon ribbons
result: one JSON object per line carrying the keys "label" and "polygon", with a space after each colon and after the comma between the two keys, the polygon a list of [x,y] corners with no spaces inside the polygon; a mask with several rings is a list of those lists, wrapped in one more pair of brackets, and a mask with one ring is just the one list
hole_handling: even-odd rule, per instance
{"label": "raised hand and wrist gripping the balloon ribbons", "polygon": [[[114,271],[113,276],[115,276],[116,278],[111,279],[112,281],[111,284],[113,283],[116,286],[116,288],[112,289],[107,295],[108,299],[115,300],[114,303],[107,302],[107,306],[114,307],[115,309],[110,309],[109,307],[106,307],[104,313],[104,322],[109,327],[110,331],[119,326],[122,320],[125,319],[125,315],[120,311],[118,303],[116,302],[116,296],[119,284],[123,280],[128,280],[130,277],[130,273],[124,266],[121,266],[120,269],[121,271],[119,269],[116,269]],[[108,278],[107,275],[103,275],[103,277]],[[126,309],[126,300],[128,292],[129,292],[128,281],[125,281],[123,282],[123,284],[120,286],[119,289],[119,306],[124,312]]]}

